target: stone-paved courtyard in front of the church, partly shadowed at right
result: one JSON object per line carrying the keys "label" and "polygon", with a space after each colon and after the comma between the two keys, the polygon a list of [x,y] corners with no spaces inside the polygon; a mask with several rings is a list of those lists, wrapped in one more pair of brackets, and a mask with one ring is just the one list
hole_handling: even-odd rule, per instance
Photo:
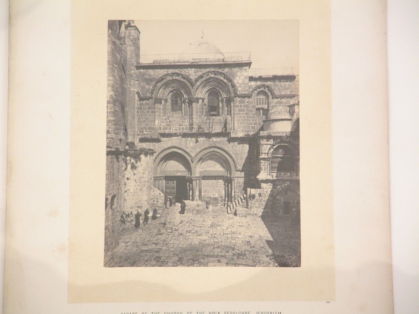
{"label": "stone-paved courtyard in front of the church, partly shadowed at right", "polygon": [[123,225],[104,265],[300,266],[300,226],[293,216],[233,216],[217,207],[181,215],[179,209],[167,208],[138,229]]}

